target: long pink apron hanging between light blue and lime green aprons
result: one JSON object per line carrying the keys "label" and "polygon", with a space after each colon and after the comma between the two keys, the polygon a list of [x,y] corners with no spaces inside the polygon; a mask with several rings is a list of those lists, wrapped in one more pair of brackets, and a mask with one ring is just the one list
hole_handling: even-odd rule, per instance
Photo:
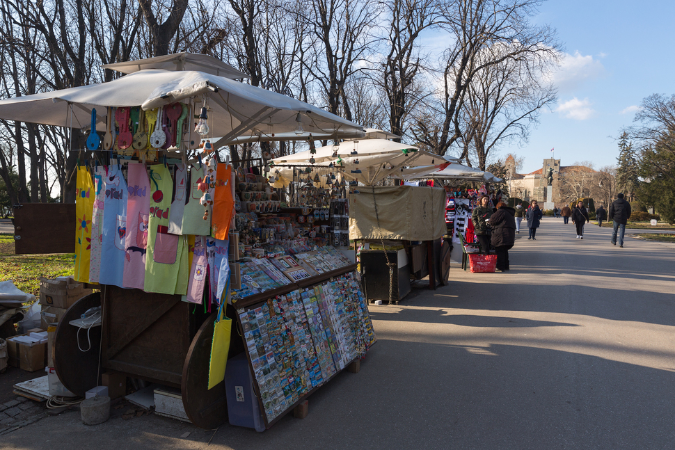
{"label": "long pink apron hanging between light blue and lime green aprons", "polygon": [[145,165],[129,163],[127,180],[127,236],[122,284],[124,287],[143,289],[151,195],[150,179]]}

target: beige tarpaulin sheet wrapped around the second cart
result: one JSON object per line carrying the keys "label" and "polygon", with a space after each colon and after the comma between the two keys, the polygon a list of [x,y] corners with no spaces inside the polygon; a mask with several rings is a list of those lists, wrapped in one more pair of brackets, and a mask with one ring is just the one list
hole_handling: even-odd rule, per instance
{"label": "beige tarpaulin sheet wrapped around the second cart", "polygon": [[349,195],[350,239],[431,241],[446,232],[445,191],[441,188],[377,186],[358,190],[360,193]]}

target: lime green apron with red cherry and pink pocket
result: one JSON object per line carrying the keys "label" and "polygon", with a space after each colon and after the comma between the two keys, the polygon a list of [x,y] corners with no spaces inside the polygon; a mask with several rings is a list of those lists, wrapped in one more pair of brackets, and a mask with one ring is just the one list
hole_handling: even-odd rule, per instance
{"label": "lime green apron with red cherry and pink pocket", "polygon": [[[152,197],[150,198],[148,250],[145,254],[145,287],[143,290],[159,294],[174,294],[182,250],[186,245],[184,245],[185,240],[182,236],[168,234],[173,179],[166,165],[150,166],[150,188]],[[187,257],[187,254],[185,256]],[[187,258],[185,264],[187,265]]]}

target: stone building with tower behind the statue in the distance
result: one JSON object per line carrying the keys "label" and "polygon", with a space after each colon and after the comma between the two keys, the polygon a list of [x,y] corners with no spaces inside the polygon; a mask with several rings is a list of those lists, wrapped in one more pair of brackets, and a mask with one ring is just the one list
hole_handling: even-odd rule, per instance
{"label": "stone building with tower behind the statue in the distance", "polygon": [[[511,173],[511,168],[513,168],[514,164],[513,156],[509,156],[505,162],[507,173]],[[560,166],[559,159],[544,159],[541,169],[525,174],[516,173],[514,177],[507,179],[507,186],[509,186],[511,197],[521,198],[528,202],[537,200],[539,204],[543,205],[546,202],[547,196],[546,188],[548,187],[548,181],[546,180],[546,173],[548,172],[548,168],[553,168],[553,185],[550,186],[552,190],[551,200],[557,207],[562,207],[566,204],[563,181],[565,175],[569,179],[578,177],[580,173],[588,177],[587,188],[581,190],[584,196],[589,196],[590,186],[594,183],[593,179],[598,174],[595,170],[583,166]]]}

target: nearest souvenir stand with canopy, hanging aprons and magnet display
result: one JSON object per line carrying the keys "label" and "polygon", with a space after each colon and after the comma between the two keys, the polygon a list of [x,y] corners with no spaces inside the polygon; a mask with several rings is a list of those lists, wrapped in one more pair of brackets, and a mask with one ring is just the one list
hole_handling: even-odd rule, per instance
{"label": "nearest souvenir stand with canopy, hanging aprons and magnet display", "polygon": [[[219,370],[209,360],[221,305],[235,320],[230,357],[246,355],[267,428],[358,362],[375,337],[356,265],[305,226],[315,209],[282,209],[267,177],[235,172],[214,149],[303,126],[296,138],[363,131],[233,81],[245,75],[204,55],[106,68],[129,74],[0,101],[3,119],[90,124],[86,150],[97,162],[84,166],[83,153],[77,168],[75,279],[100,292],[58,321],[56,373],[80,396],[104,371],[180,389],[193,424],[215,428],[228,417],[225,381],[209,379]],[[327,222],[325,209],[318,218]],[[102,320],[83,331],[77,321],[95,307]]]}

